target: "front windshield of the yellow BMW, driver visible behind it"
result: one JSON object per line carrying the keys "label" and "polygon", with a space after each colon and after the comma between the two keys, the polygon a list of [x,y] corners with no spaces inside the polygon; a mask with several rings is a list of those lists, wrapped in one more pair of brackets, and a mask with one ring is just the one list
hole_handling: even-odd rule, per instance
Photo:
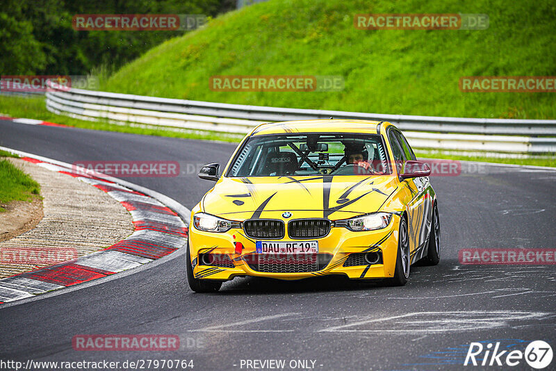
{"label": "front windshield of the yellow BMW, driver visible behind it", "polygon": [[390,174],[380,135],[308,133],[249,138],[227,176]]}

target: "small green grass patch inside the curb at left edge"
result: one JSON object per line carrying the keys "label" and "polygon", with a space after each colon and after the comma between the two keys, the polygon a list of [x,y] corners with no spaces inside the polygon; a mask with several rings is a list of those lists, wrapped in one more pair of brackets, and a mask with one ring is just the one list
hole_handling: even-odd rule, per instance
{"label": "small green grass patch inside the curb at left edge", "polygon": [[10,201],[31,201],[40,195],[40,185],[0,153],[0,213],[1,205]]}

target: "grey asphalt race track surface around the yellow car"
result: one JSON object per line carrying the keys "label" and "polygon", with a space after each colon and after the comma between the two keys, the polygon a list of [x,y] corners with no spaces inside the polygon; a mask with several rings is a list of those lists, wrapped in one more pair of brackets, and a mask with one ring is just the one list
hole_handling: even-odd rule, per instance
{"label": "grey asphalt race track surface around the yellow car", "polygon": [[[0,122],[0,145],[67,163],[222,165],[235,147],[6,121]],[[213,184],[195,174],[126,180],[188,208]],[[407,286],[245,278],[225,283],[217,294],[200,295],[187,286],[181,254],[99,285],[0,308],[0,359],[193,359],[194,370],[245,370],[242,359],[285,359],[286,365],[313,360],[316,370],[460,370],[471,342],[500,341],[506,349],[523,350],[523,341],[545,340],[556,350],[556,265],[458,261],[459,249],[470,247],[555,247],[556,172],[482,166],[434,177],[432,185],[440,200],[441,263],[412,267]],[[72,349],[76,334],[128,333],[175,334],[181,349]],[[511,369],[530,368],[521,361]]]}

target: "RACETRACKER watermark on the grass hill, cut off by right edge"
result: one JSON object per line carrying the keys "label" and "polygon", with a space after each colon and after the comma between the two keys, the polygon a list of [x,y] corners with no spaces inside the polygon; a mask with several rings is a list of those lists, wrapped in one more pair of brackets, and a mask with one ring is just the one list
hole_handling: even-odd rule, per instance
{"label": "RACETRACKER watermark on the grass hill, cut off by right edge", "polygon": [[556,76],[464,76],[461,92],[556,92]]}

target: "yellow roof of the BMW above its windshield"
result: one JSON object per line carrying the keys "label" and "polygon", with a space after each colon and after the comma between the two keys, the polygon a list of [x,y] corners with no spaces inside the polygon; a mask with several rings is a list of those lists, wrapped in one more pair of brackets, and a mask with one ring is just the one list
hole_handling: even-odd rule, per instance
{"label": "yellow roof of the BMW above its windshield", "polygon": [[[284,133],[370,133],[377,134],[379,121],[363,119],[307,119],[270,122],[257,126],[251,135]],[[384,122],[384,124],[389,124]]]}

